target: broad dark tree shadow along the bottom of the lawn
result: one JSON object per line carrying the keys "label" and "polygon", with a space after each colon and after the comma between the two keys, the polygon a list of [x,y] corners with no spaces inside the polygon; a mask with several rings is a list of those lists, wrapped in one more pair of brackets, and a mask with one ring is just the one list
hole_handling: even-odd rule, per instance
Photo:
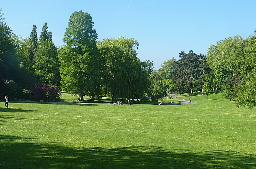
{"label": "broad dark tree shadow along the bottom of the lawn", "polygon": [[256,155],[234,151],[168,150],[161,147],[70,148],[0,135],[0,168],[254,169]]}

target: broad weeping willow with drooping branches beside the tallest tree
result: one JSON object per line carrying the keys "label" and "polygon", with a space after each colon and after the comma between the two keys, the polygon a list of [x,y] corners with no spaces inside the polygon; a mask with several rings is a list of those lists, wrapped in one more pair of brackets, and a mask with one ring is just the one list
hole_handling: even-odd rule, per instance
{"label": "broad weeping willow with drooping branches beside the tallest tree", "polygon": [[137,57],[139,43],[133,38],[104,39],[97,43],[103,75],[101,80],[102,96],[112,99],[141,99],[149,85],[149,75],[153,62],[140,62]]}

